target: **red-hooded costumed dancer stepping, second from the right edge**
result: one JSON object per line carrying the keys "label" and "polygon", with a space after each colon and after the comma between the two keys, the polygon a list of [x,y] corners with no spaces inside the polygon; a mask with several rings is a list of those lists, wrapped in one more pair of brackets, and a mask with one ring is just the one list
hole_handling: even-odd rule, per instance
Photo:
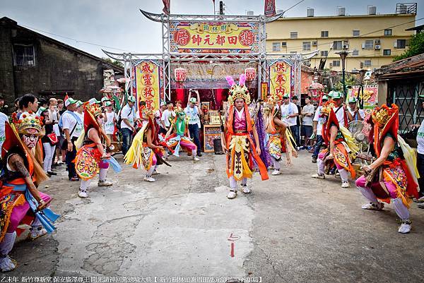
{"label": "red-hooded costumed dancer stepping, second from the right edge", "polygon": [[351,132],[338,123],[334,105],[333,101],[329,101],[321,109],[321,115],[324,119],[322,138],[324,138],[327,148],[319,152],[318,173],[312,175],[312,178],[325,179],[325,169],[327,168],[327,171],[329,171],[335,165],[340,173],[341,188],[348,188],[350,187],[349,173],[352,179],[355,178],[355,169],[353,169],[351,159],[359,148]]}

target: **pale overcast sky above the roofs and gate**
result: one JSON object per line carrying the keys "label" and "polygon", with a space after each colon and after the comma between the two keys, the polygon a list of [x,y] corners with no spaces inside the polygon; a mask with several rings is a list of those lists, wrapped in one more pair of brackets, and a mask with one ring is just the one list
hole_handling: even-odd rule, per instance
{"label": "pale overcast sky above the roofs and gate", "polygon": [[[286,10],[300,0],[276,0],[278,9]],[[305,0],[290,9],[285,16],[306,16],[307,7],[315,9],[315,16],[336,14],[337,6],[346,7],[351,15],[366,14],[367,5],[377,6],[377,13],[394,13],[392,0]],[[415,1],[412,1],[415,2]],[[424,0],[418,0],[418,15],[424,17]],[[218,10],[219,0],[216,0]],[[255,15],[264,13],[264,0],[225,0],[226,14],[244,15],[247,10]],[[162,0],[0,0],[0,18],[6,16],[37,32],[82,49],[96,56],[110,52],[161,53],[161,25],[145,18],[139,8],[161,13]],[[213,14],[212,0],[171,0],[171,13]],[[419,20],[416,25],[423,25]],[[389,26],[390,23],[387,23]],[[52,34],[46,33],[51,32]],[[64,37],[68,37],[66,39]],[[105,45],[98,47],[93,44]],[[111,49],[107,47],[114,47]]]}

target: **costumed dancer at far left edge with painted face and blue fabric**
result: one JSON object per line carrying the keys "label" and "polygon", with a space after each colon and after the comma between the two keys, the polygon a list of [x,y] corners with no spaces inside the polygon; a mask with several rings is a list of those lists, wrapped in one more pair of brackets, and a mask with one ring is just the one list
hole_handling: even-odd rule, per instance
{"label": "costumed dancer at far left edge with painted face and blue fabric", "polygon": [[52,223],[59,217],[48,208],[52,198],[37,190],[37,186],[48,178],[37,157],[41,149],[37,148],[33,154],[33,149],[39,147],[37,141],[43,135],[42,119],[22,114],[17,121],[16,114],[13,114],[13,122],[16,124],[5,125],[6,140],[1,149],[4,162],[0,179],[2,272],[16,268],[16,261],[11,260],[8,253],[13,248],[17,234],[23,231],[18,229],[19,224],[30,224],[28,238],[34,240],[52,233],[56,229]]}

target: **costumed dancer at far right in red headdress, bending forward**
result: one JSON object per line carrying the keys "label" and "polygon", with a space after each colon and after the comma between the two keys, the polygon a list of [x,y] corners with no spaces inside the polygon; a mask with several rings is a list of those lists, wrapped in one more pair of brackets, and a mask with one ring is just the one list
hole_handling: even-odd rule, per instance
{"label": "costumed dancer at far right in red headdress, bending forward", "polygon": [[391,108],[383,104],[376,107],[368,123],[374,126],[370,137],[374,138],[377,159],[364,167],[364,176],[356,180],[360,192],[370,201],[363,205],[365,210],[382,210],[384,203],[393,201],[394,210],[401,218],[399,233],[411,231],[408,207],[411,198],[418,198],[418,171],[415,153],[398,136],[399,109],[395,104]]}

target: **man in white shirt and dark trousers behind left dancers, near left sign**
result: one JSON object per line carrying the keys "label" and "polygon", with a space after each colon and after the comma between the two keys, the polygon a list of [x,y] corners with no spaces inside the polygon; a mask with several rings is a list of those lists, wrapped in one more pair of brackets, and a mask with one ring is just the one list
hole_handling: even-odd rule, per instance
{"label": "man in white shirt and dark trousers behind left dancers, near left sign", "polygon": [[124,156],[129,150],[133,134],[136,132],[136,128],[134,127],[136,121],[136,109],[134,109],[135,102],[136,97],[128,97],[128,103],[121,110],[122,154]]}

